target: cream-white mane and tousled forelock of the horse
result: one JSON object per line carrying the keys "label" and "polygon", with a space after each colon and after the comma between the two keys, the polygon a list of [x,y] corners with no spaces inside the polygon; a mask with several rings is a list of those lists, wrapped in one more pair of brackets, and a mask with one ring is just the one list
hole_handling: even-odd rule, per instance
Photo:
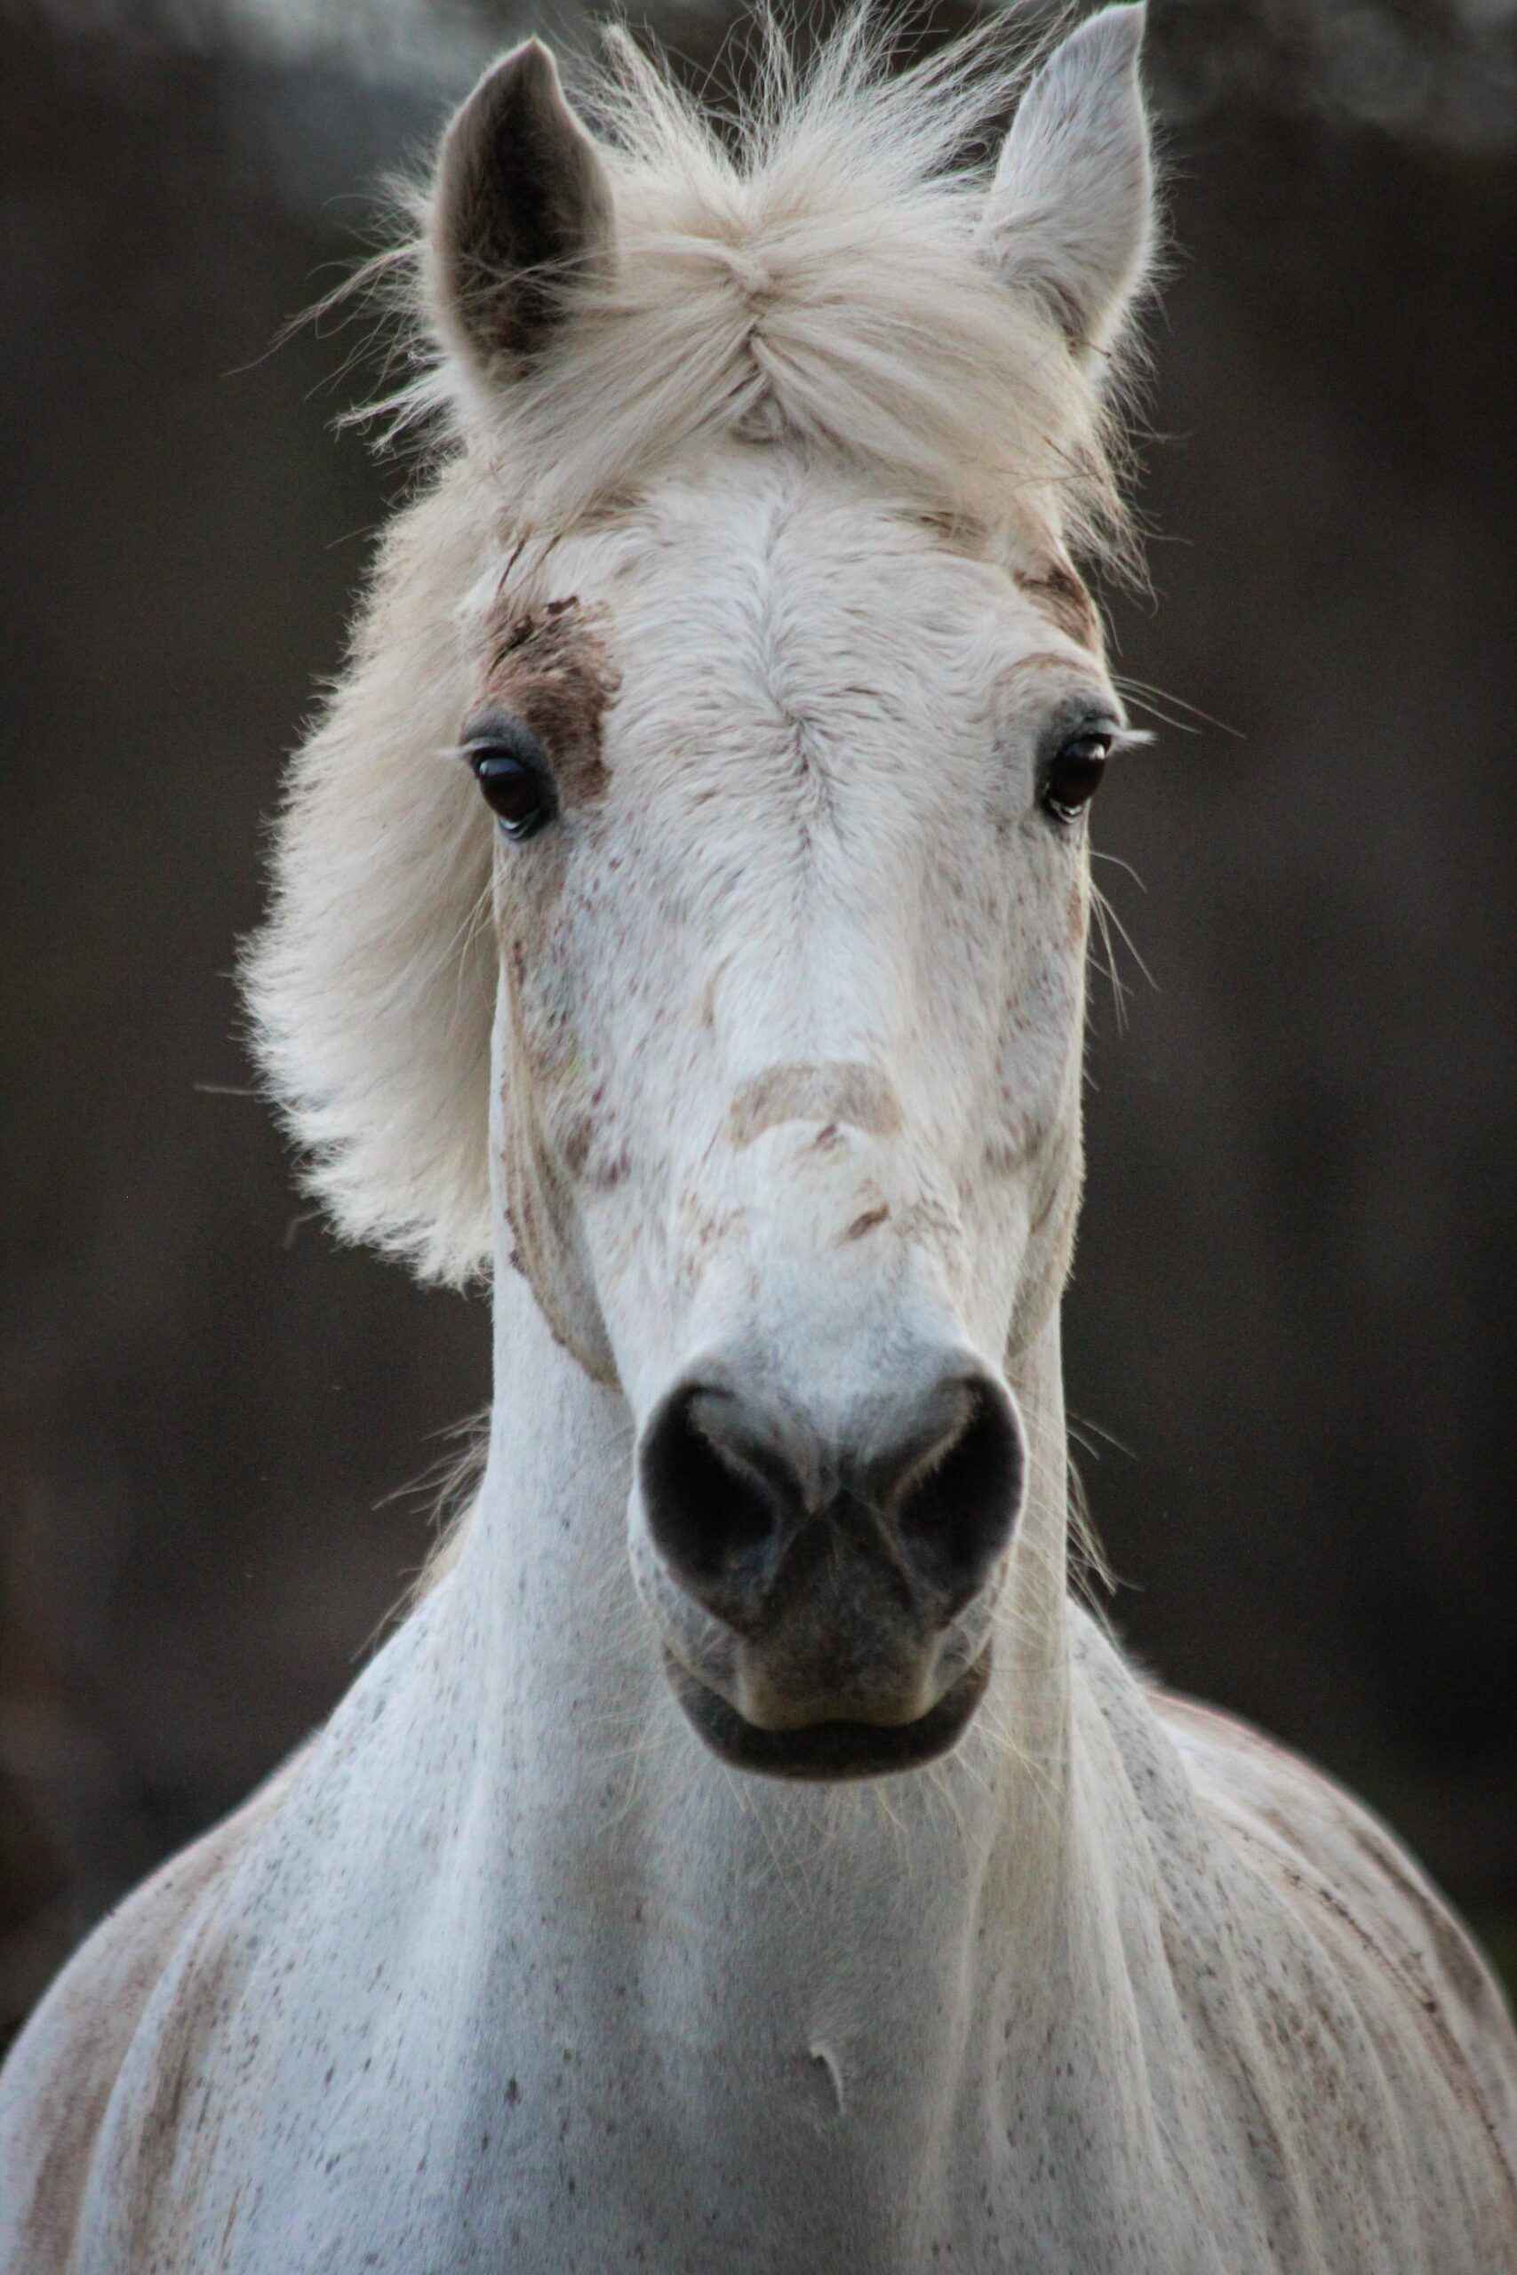
{"label": "cream-white mane and tousled forelock of the horse", "polygon": [[[1117,339],[1071,346],[987,246],[1017,25],[892,73],[851,16],[805,68],[769,25],[751,93],[703,114],[623,34],[580,102],[614,191],[616,264],[537,369],[503,384],[434,289],[430,212],[382,262],[414,378],[391,423],[437,466],[380,553],[348,671],[298,755],[271,919],[248,958],[259,1058],[312,1188],[350,1238],[462,1281],[489,1258],[489,839],[446,755],[466,692],[455,614],[528,537],[635,500],[723,437],[842,460],[955,541],[1017,564],[1126,555]],[[1046,216],[1019,209],[1037,253]],[[1012,273],[1012,284],[1017,275]]]}

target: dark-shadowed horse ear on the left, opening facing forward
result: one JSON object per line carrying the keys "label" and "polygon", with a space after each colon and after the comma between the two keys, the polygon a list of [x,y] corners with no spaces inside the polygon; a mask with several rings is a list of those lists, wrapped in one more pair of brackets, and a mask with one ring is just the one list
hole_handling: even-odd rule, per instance
{"label": "dark-shadowed horse ear on the left, opening facing forward", "polygon": [[612,266],[612,184],[528,39],[455,111],[432,184],[428,284],[446,344],[512,378],[553,337],[575,287]]}

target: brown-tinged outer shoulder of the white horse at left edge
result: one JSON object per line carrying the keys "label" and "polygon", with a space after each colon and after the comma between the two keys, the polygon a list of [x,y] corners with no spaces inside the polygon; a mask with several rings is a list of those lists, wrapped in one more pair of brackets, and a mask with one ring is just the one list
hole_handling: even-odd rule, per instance
{"label": "brown-tinged outer shoulder of the white horse at left edge", "polygon": [[148,2002],[302,1756],[171,1856],[68,1961],[0,2075],[0,2275],[66,2275],[116,2079]]}

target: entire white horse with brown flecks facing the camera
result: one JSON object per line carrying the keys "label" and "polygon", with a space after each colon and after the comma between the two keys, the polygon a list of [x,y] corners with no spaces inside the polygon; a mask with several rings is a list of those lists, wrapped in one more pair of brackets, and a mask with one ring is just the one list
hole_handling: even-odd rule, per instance
{"label": "entire white horse with brown flecks facing the camera", "polygon": [[250,985],[339,1224],[494,1254],[489,1465],[18,2043],[7,2275],[1517,2268],[1462,1929],[1067,1595],[1139,11],[980,173],[998,50],[867,46],[441,146]]}

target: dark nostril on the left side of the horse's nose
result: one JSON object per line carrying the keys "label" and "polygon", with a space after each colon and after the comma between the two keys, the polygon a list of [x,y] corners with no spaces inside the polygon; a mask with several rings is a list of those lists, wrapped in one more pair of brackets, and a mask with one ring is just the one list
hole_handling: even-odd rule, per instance
{"label": "dark nostril on the left side of the horse's nose", "polygon": [[730,1392],[687,1383],[666,1399],[639,1458],[655,1547],[691,1595],[730,1620],[753,1599],[796,1504],[773,1451],[737,1436],[735,1408]]}

